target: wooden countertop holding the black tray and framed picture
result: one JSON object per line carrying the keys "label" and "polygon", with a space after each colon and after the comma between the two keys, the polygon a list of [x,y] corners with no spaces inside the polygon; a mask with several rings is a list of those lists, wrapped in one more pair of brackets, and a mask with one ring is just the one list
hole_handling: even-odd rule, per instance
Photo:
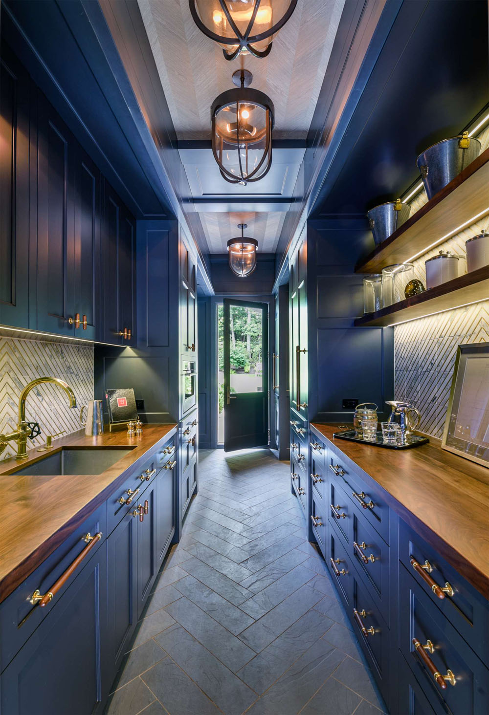
{"label": "wooden countertop holding the black tray and framed picture", "polygon": [[390,450],[334,438],[311,424],[383,490],[385,501],[489,599],[489,469],[442,450],[440,440]]}

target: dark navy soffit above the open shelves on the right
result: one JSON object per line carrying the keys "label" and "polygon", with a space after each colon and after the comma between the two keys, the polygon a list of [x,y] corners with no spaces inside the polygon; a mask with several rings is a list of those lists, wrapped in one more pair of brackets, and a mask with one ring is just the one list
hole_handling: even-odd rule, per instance
{"label": "dark navy soffit above the open shelves on the right", "polygon": [[419,179],[416,157],[489,100],[486,0],[405,0],[327,174],[314,216],[364,216]]}

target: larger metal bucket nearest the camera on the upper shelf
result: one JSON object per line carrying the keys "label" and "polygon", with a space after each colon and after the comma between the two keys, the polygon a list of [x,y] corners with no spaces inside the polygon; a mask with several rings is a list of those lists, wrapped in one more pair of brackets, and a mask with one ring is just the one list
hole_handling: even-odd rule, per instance
{"label": "larger metal bucket nearest the camera on the upper shelf", "polygon": [[438,194],[443,187],[468,167],[480,154],[480,142],[463,132],[460,137],[443,139],[433,144],[416,159],[428,199]]}

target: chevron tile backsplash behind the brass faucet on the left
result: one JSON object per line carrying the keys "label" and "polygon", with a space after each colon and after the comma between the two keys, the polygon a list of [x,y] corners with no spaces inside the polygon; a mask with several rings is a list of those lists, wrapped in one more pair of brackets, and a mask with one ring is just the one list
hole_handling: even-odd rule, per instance
{"label": "chevron tile backsplash behind the brass faucet on the left", "polygon": [[[41,377],[65,380],[73,389],[79,408],[86,405],[94,398],[93,345],[0,337],[1,433],[16,428],[19,395],[27,383]],[[26,417],[29,422],[41,425],[41,435],[28,441],[28,449],[44,444],[46,435],[81,429],[79,409],[70,410],[65,393],[56,385],[39,385],[31,390]],[[15,451],[16,444],[9,443],[1,458],[11,457]]]}

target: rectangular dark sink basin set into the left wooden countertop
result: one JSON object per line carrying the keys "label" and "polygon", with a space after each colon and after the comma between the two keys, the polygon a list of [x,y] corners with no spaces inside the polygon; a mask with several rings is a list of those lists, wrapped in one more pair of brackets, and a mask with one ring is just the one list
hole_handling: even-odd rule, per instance
{"label": "rectangular dark sink basin set into the left wooden countertop", "polygon": [[117,449],[113,447],[72,448],[63,447],[59,452],[47,454],[34,464],[28,464],[11,474],[51,475],[51,474],[102,474],[106,469],[131,452],[134,447]]}

